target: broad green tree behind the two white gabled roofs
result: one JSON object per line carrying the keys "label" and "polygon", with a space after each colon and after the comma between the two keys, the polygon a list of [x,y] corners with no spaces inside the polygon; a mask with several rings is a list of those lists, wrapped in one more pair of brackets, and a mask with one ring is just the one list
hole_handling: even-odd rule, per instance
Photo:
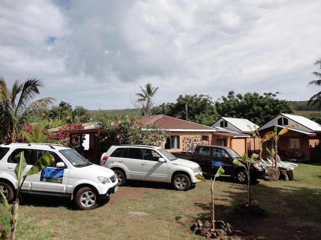
{"label": "broad green tree behind the two white gabled roofs", "polygon": [[215,101],[218,114],[225,117],[245,118],[261,126],[279,113],[294,114],[292,105],[286,100],[276,98],[279,92],[264,93],[247,92],[235,95],[230,91],[227,97],[222,96]]}

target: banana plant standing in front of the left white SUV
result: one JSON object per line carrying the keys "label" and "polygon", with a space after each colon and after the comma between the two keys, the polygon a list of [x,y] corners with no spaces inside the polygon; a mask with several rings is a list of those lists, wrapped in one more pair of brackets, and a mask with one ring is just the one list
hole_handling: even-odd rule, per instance
{"label": "banana plant standing in front of the left white SUV", "polygon": [[10,212],[10,223],[11,223],[11,240],[16,240],[16,231],[17,231],[17,219],[18,219],[18,212],[19,212],[19,196],[20,191],[23,185],[24,180],[27,176],[36,174],[40,172],[43,168],[50,166],[51,163],[55,161],[54,157],[49,153],[46,152],[42,157],[38,159],[38,161],[32,165],[30,170],[22,176],[24,169],[27,166],[26,159],[24,158],[24,153],[20,152],[15,157],[17,161],[17,165],[14,169],[14,173],[16,174],[16,178],[18,180],[17,184],[17,195],[16,199],[11,206],[7,199],[4,197],[2,191],[0,191],[0,202],[9,210]]}

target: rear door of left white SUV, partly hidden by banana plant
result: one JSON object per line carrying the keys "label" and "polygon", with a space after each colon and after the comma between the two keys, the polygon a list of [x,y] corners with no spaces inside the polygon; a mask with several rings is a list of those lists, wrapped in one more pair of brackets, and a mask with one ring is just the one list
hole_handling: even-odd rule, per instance
{"label": "rear door of left white SUV, partly hidden by banana plant", "polygon": [[[36,149],[30,149],[30,148],[16,148],[12,151],[10,156],[7,159],[7,162],[4,163],[4,172],[10,174],[13,176],[14,179],[16,178],[16,174],[14,173],[14,169],[18,164],[18,161],[16,160],[16,156],[23,152],[24,158],[26,159],[27,166],[24,169],[22,176],[27,173],[32,165],[35,163],[35,154],[36,154]],[[18,157],[18,156],[17,156]],[[23,182],[22,185],[22,190],[31,190],[31,183],[32,183],[32,175],[27,176],[26,179]],[[15,186],[18,185],[18,180],[15,182]]]}

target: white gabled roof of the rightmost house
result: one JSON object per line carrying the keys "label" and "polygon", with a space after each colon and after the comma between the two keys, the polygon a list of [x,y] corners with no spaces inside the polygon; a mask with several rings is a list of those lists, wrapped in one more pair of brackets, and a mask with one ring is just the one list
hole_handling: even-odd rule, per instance
{"label": "white gabled roof of the rightmost house", "polygon": [[[259,128],[259,130],[263,130],[266,128],[269,128],[275,124],[270,124],[275,119],[278,119],[280,116],[284,116],[288,119],[291,119],[293,122],[310,129],[312,132],[321,132],[321,125],[313,122],[312,120],[304,117],[304,116],[298,116],[298,115],[292,115],[292,114],[285,114],[285,113],[280,113],[279,115],[275,116],[273,119],[265,123],[263,126]],[[284,126],[283,126],[284,127]]]}

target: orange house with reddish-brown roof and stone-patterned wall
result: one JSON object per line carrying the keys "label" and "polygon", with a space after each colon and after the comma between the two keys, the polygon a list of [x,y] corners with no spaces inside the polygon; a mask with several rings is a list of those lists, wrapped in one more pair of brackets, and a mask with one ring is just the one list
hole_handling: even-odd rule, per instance
{"label": "orange house with reddish-brown roof and stone-patterned wall", "polygon": [[169,152],[186,151],[194,144],[221,145],[233,148],[242,155],[247,152],[249,135],[213,128],[166,115],[152,115],[140,120],[168,131],[169,137],[158,144]]}

